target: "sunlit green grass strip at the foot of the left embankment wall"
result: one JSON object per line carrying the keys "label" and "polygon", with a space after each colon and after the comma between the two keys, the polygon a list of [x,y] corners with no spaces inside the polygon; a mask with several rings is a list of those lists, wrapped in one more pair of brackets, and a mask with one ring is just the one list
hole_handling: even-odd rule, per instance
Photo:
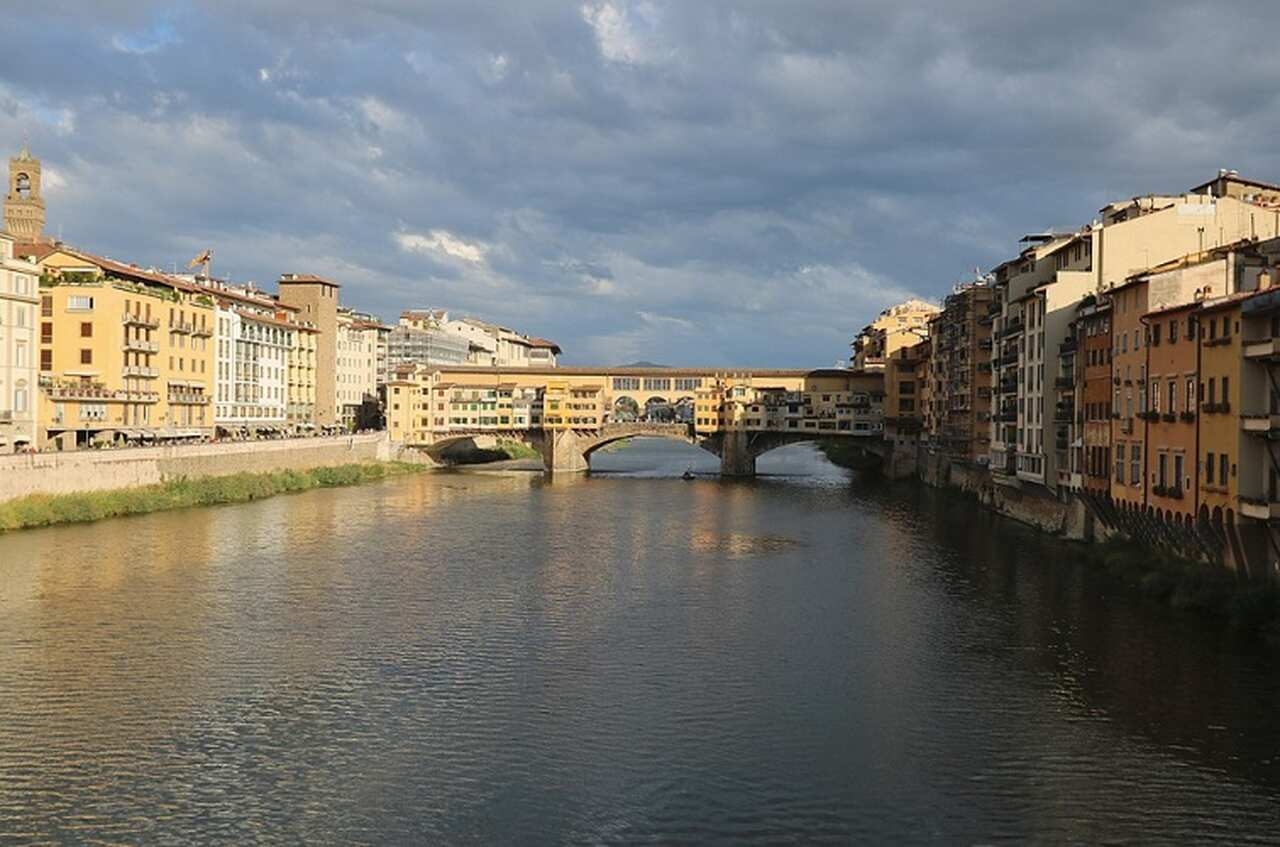
{"label": "sunlit green grass strip at the foot of the left embankment wall", "polygon": [[425,468],[424,464],[407,462],[366,462],[310,471],[183,477],[160,485],[145,485],[116,491],[35,494],[9,503],[0,503],[0,532],[55,523],[100,521],[124,514],[183,509],[192,505],[244,503],[275,494],[360,485],[389,476],[417,473]]}

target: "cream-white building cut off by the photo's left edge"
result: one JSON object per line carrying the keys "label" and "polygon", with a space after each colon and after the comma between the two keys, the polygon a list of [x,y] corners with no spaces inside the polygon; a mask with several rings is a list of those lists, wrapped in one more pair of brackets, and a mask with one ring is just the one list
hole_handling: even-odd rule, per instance
{"label": "cream-white building cut off by the photo's left edge", "polygon": [[0,233],[0,453],[37,443],[40,269],[13,251],[13,237]]}

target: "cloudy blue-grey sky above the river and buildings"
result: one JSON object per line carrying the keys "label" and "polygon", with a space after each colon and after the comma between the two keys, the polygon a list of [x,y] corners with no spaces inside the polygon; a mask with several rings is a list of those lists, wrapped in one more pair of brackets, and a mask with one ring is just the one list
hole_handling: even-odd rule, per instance
{"label": "cloudy blue-grey sky above the river and buildings", "polygon": [[827,366],[1024,233],[1280,180],[1272,3],[44,0],[0,147],[140,265],[471,313],[562,361]]}

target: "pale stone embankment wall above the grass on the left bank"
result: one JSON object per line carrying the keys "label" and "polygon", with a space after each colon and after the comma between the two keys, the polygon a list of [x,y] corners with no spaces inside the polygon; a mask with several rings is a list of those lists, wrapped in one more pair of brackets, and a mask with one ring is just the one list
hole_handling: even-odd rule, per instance
{"label": "pale stone embankment wall above the grass on the left bank", "polygon": [[274,441],[220,441],[0,457],[0,503],[24,496],[114,491],[177,479],[312,471],[364,462],[428,463],[384,432]]}

